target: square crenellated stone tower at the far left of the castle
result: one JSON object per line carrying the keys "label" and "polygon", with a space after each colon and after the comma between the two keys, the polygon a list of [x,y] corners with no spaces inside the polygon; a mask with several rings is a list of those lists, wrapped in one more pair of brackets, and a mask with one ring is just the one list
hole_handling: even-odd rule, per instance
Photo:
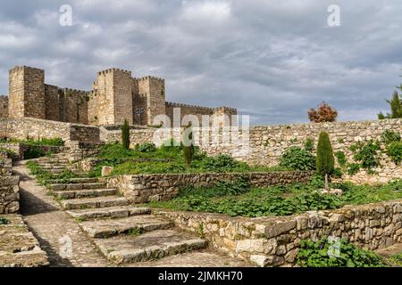
{"label": "square crenellated stone tower at the far left of the castle", "polygon": [[9,117],[46,118],[45,71],[17,66],[9,76]]}

